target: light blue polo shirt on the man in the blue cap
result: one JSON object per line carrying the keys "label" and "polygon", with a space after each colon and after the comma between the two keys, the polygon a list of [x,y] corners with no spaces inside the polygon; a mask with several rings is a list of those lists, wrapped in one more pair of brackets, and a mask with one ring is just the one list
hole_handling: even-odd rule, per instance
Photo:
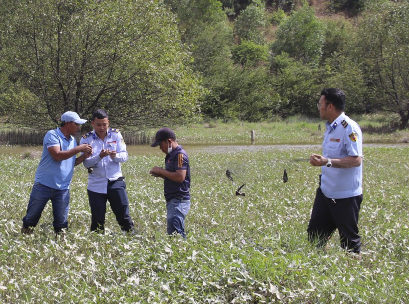
{"label": "light blue polo shirt on the man in the blue cap", "polygon": [[59,127],[47,132],[43,139],[41,160],[35,172],[34,181],[58,190],[70,189],[76,156],[56,161],[48,151],[48,148],[53,146],[60,146],[61,151],[66,151],[75,148],[77,141],[73,136],[66,139]]}

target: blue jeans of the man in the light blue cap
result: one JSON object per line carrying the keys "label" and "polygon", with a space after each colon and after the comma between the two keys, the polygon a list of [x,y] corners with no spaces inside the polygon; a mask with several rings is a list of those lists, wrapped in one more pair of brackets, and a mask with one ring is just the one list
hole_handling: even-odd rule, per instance
{"label": "blue jeans of the man in the light blue cap", "polygon": [[41,213],[51,200],[53,206],[53,227],[56,232],[68,228],[68,211],[70,208],[70,190],[58,190],[34,182],[31,190],[26,216],[22,219],[23,227],[35,227],[41,218]]}

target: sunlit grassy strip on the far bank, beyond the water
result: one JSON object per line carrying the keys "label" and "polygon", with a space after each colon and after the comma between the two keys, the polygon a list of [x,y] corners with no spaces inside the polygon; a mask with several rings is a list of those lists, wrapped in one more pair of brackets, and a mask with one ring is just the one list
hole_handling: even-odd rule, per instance
{"label": "sunlit grassy strip on the far bank, beyond the water", "polygon": [[[352,118],[352,117],[351,117]],[[378,127],[385,123],[387,118],[381,115],[353,117],[362,128]],[[321,132],[318,129],[321,124]],[[277,144],[309,144],[322,143],[325,121],[306,117],[289,117],[277,122],[230,122],[211,121],[196,123],[189,126],[175,127],[176,137],[186,143],[238,143],[249,142],[251,132],[255,131],[257,143]],[[155,130],[151,130],[152,137]],[[365,143],[407,143],[409,131],[365,133]]]}

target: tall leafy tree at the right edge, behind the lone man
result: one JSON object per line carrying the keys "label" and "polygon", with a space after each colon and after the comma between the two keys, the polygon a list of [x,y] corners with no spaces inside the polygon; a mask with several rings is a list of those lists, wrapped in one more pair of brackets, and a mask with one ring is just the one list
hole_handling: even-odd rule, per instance
{"label": "tall leafy tree at the right edge, behind the lone man", "polygon": [[409,2],[374,0],[363,12],[355,40],[356,64],[377,92],[384,111],[409,121]]}

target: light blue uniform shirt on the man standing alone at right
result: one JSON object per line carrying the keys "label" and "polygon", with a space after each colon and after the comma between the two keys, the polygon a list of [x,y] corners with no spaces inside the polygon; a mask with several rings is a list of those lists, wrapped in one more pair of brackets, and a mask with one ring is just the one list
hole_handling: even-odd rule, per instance
{"label": "light blue uniform shirt on the man standing alone at right", "polygon": [[[359,125],[342,113],[331,124],[327,122],[323,141],[325,158],[362,155],[362,132]],[[321,190],[327,198],[345,199],[362,194],[362,163],[359,167],[322,166]]]}

